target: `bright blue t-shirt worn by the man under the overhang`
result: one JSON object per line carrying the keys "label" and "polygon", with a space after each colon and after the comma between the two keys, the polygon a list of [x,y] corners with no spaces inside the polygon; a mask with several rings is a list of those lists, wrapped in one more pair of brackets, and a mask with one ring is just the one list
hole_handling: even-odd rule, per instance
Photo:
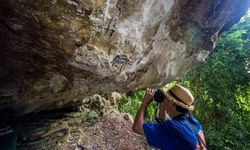
{"label": "bright blue t-shirt worn by the man under the overhang", "polygon": [[143,130],[150,146],[163,150],[195,150],[198,137],[186,121],[199,132],[200,123],[190,115],[163,123],[144,123]]}

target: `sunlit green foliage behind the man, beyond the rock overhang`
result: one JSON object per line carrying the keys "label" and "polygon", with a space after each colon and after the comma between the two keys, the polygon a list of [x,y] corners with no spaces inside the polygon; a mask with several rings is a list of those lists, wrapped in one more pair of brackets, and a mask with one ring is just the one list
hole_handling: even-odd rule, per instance
{"label": "sunlit green foliage behind the man, beyond the rock overhang", "polygon": [[[195,99],[209,149],[250,149],[250,15],[221,35],[207,62],[188,72],[181,84]],[[144,92],[132,92],[121,104],[135,116]],[[153,104],[147,120],[154,121]],[[151,116],[151,117],[150,117]]]}

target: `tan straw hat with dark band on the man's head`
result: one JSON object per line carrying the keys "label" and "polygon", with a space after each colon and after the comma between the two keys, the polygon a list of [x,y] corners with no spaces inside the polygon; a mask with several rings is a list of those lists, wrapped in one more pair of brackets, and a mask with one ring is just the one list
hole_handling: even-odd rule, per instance
{"label": "tan straw hat with dark band on the man's head", "polygon": [[167,99],[173,101],[176,105],[187,110],[194,110],[194,97],[187,88],[176,84],[171,89],[163,88],[161,91],[167,97]]}

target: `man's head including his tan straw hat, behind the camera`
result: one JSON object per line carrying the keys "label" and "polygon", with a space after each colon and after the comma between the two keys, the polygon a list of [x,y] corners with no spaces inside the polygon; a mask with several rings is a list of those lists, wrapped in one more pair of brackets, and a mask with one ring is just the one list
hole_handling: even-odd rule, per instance
{"label": "man's head including his tan straw hat, behind the camera", "polygon": [[165,95],[163,105],[167,112],[187,113],[194,109],[194,97],[188,89],[175,85],[170,90],[162,89],[161,91]]}

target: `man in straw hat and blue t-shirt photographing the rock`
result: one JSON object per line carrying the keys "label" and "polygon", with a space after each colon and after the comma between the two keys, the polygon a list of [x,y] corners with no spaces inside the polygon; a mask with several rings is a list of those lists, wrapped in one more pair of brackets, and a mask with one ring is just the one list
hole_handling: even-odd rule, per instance
{"label": "man in straw hat and blue t-shirt photographing the rock", "polygon": [[159,120],[162,122],[144,122],[144,114],[155,92],[155,89],[147,89],[136,114],[133,131],[145,135],[150,146],[160,149],[206,149],[201,125],[189,114],[194,109],[194,98],[188,89],[180,85],[175,85],[170,90],[161,90],[164,98],[160,103]]}

